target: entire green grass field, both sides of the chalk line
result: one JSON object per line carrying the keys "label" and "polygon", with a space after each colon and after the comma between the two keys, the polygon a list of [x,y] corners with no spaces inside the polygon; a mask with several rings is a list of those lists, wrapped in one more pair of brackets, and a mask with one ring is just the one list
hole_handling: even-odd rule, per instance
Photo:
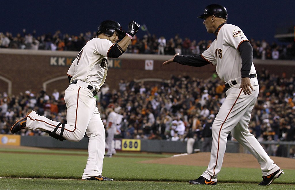
{"label": "entire green grass field, both sides of the chalk line", "polygon": [[[206,169],[205,166],[138,163],[171,156],[168,154],[118,153],[113,158],[104,158],[103,175],[115,181],[81,181],[87,151],[0,151],[0,189],[196,189],[188,181],[198,178]],[[295,170],[284,169],[284,172],[267,189],[295,189],[295,185],[287,185],[295,184]],[[266,189],[257,185],[261,180],[259,168],[224,167],[218,174],[216,187],[198,186],[198,189]]]}

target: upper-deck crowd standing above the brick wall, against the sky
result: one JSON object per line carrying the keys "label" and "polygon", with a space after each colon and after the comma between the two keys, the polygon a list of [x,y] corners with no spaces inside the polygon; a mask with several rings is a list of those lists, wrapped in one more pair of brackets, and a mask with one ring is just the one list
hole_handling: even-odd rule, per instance
{"label": "upper-deck crowd standing above the brick wall, against the sky", "polygon": [[[46,49],[52,51],[80,51],[90,39],[96,37],[96,32],[86,32],[80,35],[63,34],[60,30],[55,34],[50,32],[41,36],[34,30],[28,33],[23,29],[22,33],[13,36],[11,33],[0,33],[0,48],[13,49]],[[253,46],[253,58],[262,60],[295,60],[295,43],[279,45],[265,40],[255,41],[250,39]],[[174,38],[165,39],[155,34],[145,34],[142,38],[136,36],[126,52],[139,54],[169,54],[174,55],[198,55],[204,52],[212,43],[212,40],[196,40],[178,34]]]}

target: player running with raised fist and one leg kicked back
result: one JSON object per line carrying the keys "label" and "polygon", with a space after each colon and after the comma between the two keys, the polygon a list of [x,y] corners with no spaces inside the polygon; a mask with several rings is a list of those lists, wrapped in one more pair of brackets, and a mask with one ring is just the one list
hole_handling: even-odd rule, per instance
{"label": "player running with raised fist and one leg kicked back", "polygon": [[[89,157],[82,179],[113,181],[101,175],[105,130],[94,95],[106,80],[108,58],[122,55],[138,29],[139,24],[132,21],[125,34],[118,22],[101,22],[97,37],[86,43],[68,70],[70,85],[65,90],[67,124],[49,120],[31,111],[26,117],[14,123],[11,133],[24,128],[40,129],[60,141],[80,141],[86,132],[89,137]],[[118,42],[119,39],[122,40]]]}

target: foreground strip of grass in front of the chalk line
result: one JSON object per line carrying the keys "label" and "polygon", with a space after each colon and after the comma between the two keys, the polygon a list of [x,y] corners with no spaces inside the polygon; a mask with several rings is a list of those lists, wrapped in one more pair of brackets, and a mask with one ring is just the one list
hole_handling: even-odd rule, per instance
{"label": "foreground strip of grass in front of the chalk line", "polygon": [[184,182],[156,181],[81,181],[57,179],[0,179],[1,189],[294,189],[294,185],[219,183],[217,186],[190,185]]}

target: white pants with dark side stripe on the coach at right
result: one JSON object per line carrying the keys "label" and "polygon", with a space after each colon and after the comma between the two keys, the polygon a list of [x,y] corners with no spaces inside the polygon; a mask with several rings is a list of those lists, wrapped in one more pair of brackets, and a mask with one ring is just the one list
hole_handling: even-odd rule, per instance
{"label": "white pants with dark side stripe on the coach at right", "polygon": [[232,136],[257,158],[262,175],[269,175],[279,167],[273,163],[257,139],[249,132],[251,111],[258,97],[259,86],[257,78],[251,78],[253,91],[245,95],[239,87],[240,83],[226,91],[226,99],[222,103],[212,125],[212,149],[208,168],[201,175],[211,181],[217,181],[217,174],[221,170],[225,153],[227,136]]}

